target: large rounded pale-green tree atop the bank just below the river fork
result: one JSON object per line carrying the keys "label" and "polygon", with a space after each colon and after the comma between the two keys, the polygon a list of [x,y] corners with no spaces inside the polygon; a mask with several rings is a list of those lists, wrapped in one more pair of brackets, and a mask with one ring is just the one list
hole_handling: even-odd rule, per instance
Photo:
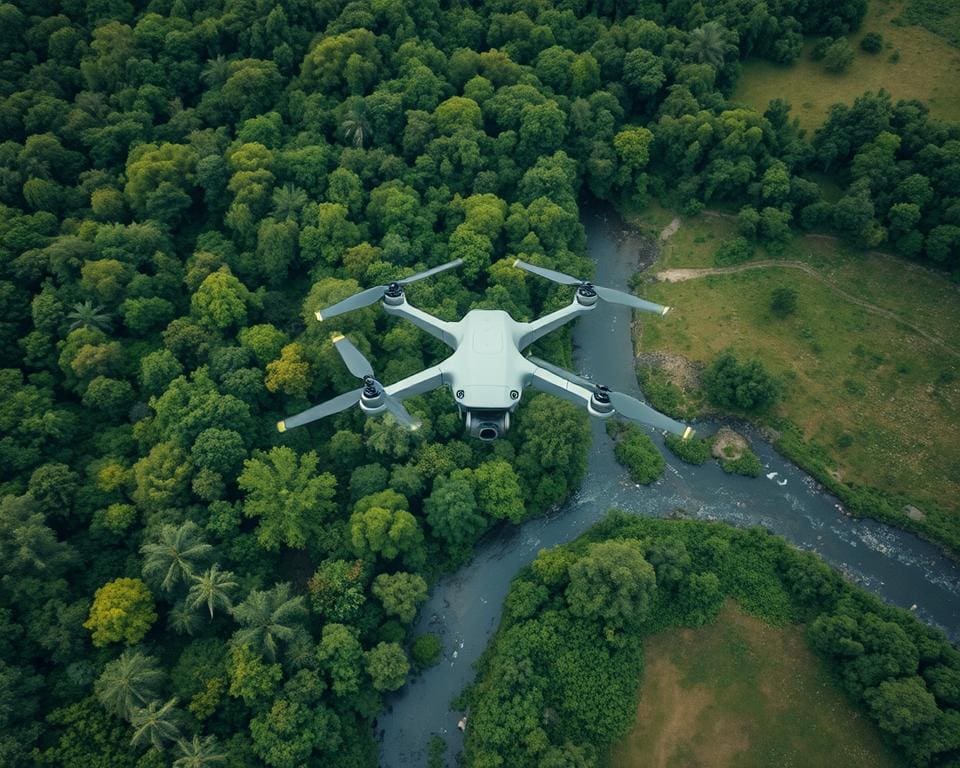
{"label": "large rounded pale-green tree atop the bank just below the river fork", "polygon": [[604,541],[591,544],[570,566],[567,605],[574,616],[626,629],[647,618],[656,588],[653,566],[638,542]]}

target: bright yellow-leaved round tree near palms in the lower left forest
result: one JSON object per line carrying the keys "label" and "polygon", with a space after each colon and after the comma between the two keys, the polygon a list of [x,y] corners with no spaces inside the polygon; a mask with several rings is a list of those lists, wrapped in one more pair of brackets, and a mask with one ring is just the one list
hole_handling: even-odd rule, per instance
{"label": "bright yellow-leaved round tree near palms in the lower left forest", "polygon": [[102,647],[123,640],[134,645],[157,620],[153,595],[140,579],[114,579],[97,590],[83,623],[93,644]]}

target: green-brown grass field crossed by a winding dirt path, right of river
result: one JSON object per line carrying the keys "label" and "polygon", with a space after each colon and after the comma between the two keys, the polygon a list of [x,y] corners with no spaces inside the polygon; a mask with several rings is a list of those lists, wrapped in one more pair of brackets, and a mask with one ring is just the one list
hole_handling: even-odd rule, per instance
{"label": "green-brown grass field crossed by a winding dirt path, right of river", "polygon": [[[667,218],[653,208],[639,223],[649,231]],[[648,274],[709,267],[717,246],[733,234],[729,218],[685,219]],[[848,296],[779,266],[651,283],[642,295],[674,310],[640,319],[638,349],[703,364],[726,348],[759,358],[785,383],[774,415],[825,448],[835,477],[957,511],[960,357],[948,349],[960,353],[960,289],[937,273],[829,238],[797,238],[779,258],[809,265]],[[798,294],[796,312],[785,319],[769,309],[780,286]],[[894,313],[946,346],[851,298]]]}

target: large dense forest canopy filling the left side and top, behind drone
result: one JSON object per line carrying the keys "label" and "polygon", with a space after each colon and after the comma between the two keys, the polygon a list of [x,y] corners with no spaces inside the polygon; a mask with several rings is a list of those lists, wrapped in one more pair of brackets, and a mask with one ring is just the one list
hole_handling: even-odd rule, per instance
{"label": "large dense forest canopy filling the left side and top, behind drone", "polygon": [[462,258],[411,300],[528,319],[569,297],[511,260],[586,274],[588,192],[956,269],[960,127],[868,94],[810,141],[784,101],[727,101],[743,57],[864,11],[0,5],[0,763],[375,763],[429,580],[566,498],[588,433],[541,396],[470,441],[441,392],[416,433],[350,411],[279,435],[354,386],[331,331],[387,383],[442,353],[376,308],[315,322],[359,286]]}

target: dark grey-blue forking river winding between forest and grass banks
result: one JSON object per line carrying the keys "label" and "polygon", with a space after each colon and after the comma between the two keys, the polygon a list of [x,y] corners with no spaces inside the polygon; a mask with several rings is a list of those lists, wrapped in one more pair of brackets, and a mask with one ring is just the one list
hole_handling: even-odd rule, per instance
{"label": "dark grey-blue forking river winding between forest and grass banks", "polygon": [[[584,225],[597,283],[625,288],[655,246],[626,231],[607,207],[585,208]],[[639,396],[630,322],[629,309],[600,305],[574,331],[575,357],[584,375]],[[496,630],[510,580],[540,549],[570,541],[612,508],[658,517],[682,509],[699,519],[763,526],[819,553],[884,600],[916,606],[920,618],[941,627],[954,642],[960,638],[960,566],[912,534],[846,516],[834,497],[749,429],[746,434],[765,472],[776,473],[772,479],[728,475],[716,462],[691,466],[663,448],[664,476],[651,486],[637,486],[614,458],[603,424],[595,420],[592,426],[579,492],[558,512],[489,537],[468,565],[434,587],[416,631],[440,635],[443,656],[388,700],[388,711],[378,721],[384,768],[425,765],[434,733],[447,739],[448,757],[459,751],[461,713],[450,711],[450,701],[473,678],[472,665]],[[697,426],[708,434],[715,425]],[[662,447],[659,435],[654,439]]]}

